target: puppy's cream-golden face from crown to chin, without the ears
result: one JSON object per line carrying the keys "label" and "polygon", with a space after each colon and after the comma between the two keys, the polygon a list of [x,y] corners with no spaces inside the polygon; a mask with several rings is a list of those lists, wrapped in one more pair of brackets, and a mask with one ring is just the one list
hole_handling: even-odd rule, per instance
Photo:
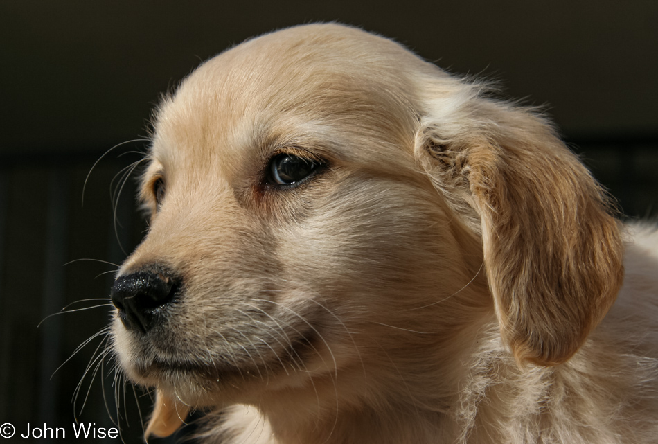
{"label": "puppy's cream-golden face from crown to chin, without the ears", "polygon": [[256,403],[310,378],[333,390],[337,368],[382,355],[377,328],[403,331],[384,324],[436,330],[400,312],[458,292],[481,260],[462,257],[476,236],[451,227],[414,157],[404,69],[419,62],[359,30],[292,28],[206,62],[163,101],[148,236],[113,290],[132,380],[179,405]]}

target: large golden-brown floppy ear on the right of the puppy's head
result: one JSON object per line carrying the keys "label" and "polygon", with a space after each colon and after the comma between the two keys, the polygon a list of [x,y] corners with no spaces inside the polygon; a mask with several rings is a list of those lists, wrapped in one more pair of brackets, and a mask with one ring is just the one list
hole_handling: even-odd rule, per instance
{"label": "large golden-brown floppy ear on the right of the puppy's head", "polygon": [[450,115],[429,110],[416,156],[481,231],[501,335],[517,362],[560,364],[603,319],[623,280],[605,193],[542,118],[477,95],[451,106]]}

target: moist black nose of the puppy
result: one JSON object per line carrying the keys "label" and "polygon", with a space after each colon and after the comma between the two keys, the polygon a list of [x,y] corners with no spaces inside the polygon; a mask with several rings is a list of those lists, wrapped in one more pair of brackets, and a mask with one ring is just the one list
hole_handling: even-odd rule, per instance
{"label": "moist black nose of the puppy", "polygon": [[137,272],[117,278],[110,297],[125,328],[145,333],[179,288],[179,281],[166,274]]}

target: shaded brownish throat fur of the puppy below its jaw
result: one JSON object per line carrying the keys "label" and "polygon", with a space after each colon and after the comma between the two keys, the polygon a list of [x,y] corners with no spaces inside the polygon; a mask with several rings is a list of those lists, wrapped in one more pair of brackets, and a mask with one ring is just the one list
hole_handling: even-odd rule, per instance
{"label": "shaded brownish throat fur of the puppy below its jaw", "polygon": [[[423,368],[409,359],[409,353],[402,358],[391,351],[389,362],[375,364],[377,380],[368,371],[371,363],[341,368],[338,373],[312,378],[303,387],[267,393],[251,407],[238,408],[225,427],[244,430],[251,436],[251,441],[245,441],[249,443],[254,431],[260,430],[269,437],[262,443],[268,444],[450,441],[460,429],[454,406],[463,385],[452,379],[463,373],[451,366],[463,365],[479,342],[470,332],[467,335],[468,331],[473,330],[454,335],[452,346],[445,344],[445,354],[435,356],[436,366]],[[427,355],[419,355],[419,362],[421,358],[427,359]],[[436,368],[443,369],[441,374]]]}

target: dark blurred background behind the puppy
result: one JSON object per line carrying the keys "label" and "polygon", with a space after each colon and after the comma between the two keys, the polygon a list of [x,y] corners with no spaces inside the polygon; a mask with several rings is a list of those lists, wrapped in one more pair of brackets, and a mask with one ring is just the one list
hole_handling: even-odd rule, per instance
{"label": "dark blurred background behind the puppy", "polygon": [[149,395],[115,379],[103,328],[116,264],[145,229],[130,172],[150,112],[224,48],[312,21],[393,37],[544,106],[625,217],[655,215],[655,0],[0,0],[0,424],[70,441],[76,418],[118,421],[141,441]]}

